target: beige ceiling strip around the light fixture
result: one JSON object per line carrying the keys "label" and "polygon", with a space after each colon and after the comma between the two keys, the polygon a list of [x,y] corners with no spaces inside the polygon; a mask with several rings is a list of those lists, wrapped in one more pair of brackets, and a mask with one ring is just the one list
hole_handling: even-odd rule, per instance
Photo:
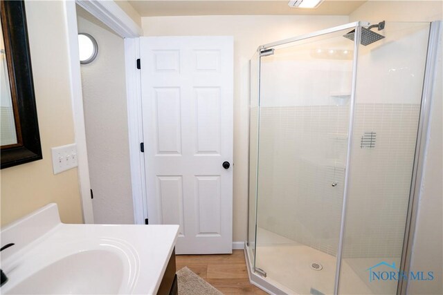
{"label": "beige ceiling strip around the light fixture", "polygon": [[133,0],[141,17],[178,15],[350,15],[365,1],[325,0],[315,9],[289,8],[288,1]]}

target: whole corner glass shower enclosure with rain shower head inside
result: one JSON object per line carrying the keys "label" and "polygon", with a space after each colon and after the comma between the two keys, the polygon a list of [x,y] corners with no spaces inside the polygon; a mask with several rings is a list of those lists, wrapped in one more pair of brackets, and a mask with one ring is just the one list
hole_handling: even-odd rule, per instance
{"label": "whole corner glass shower enclosure with rain shower head inside", "polygon": [[246,254],[262,289],[399,292],[377,274],[405,267],[433,34],[356,22],[259,47]]}

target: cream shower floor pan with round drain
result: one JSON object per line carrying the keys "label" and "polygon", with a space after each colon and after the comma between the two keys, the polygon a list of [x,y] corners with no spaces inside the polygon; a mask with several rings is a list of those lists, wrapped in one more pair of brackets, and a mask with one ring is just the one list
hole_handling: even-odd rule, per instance
{"label": "cream shower floor pan with round drain", "polygon": [[[336,257],[299,244],[288,238],[257,228],[256,266],[266,272],[266,278],[249,272],[253,285],[270,294],[334,294]],[[266,241],[267,240],[267,241]],[[272,241],[272,244],[271,244]],[[246,263],[251,269],[246,249]],[[368,281],[368,265],[393,258],[347,258],[341,266],[340,294],[395,294],[397,282]],[[316,269],[316,263],[322,268]],[[395,261],[397,264],[398,262]]]}

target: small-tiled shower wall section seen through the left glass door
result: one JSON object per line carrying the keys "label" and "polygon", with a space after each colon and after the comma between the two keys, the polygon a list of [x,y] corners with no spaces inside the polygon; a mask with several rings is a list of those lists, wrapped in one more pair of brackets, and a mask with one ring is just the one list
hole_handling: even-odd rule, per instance
{"label": "small-tiled shower wall section seen through the left glass door", "polygon": [[[259,227],[330,254],[336,252],[348,109],[261,108]],[[336,187],[331,186],[334,180]]]}

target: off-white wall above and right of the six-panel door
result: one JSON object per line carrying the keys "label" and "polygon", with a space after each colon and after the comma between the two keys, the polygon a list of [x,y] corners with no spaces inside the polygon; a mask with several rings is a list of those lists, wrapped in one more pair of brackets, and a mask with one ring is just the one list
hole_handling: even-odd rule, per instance
{"label": "off-white wall above and right of the six-panel door", "polygon": [[246,240],[247,231],[249,59],[262,44],[347,22],[347,16],[142,17],[145,36],[234,36],[234,241]]}

